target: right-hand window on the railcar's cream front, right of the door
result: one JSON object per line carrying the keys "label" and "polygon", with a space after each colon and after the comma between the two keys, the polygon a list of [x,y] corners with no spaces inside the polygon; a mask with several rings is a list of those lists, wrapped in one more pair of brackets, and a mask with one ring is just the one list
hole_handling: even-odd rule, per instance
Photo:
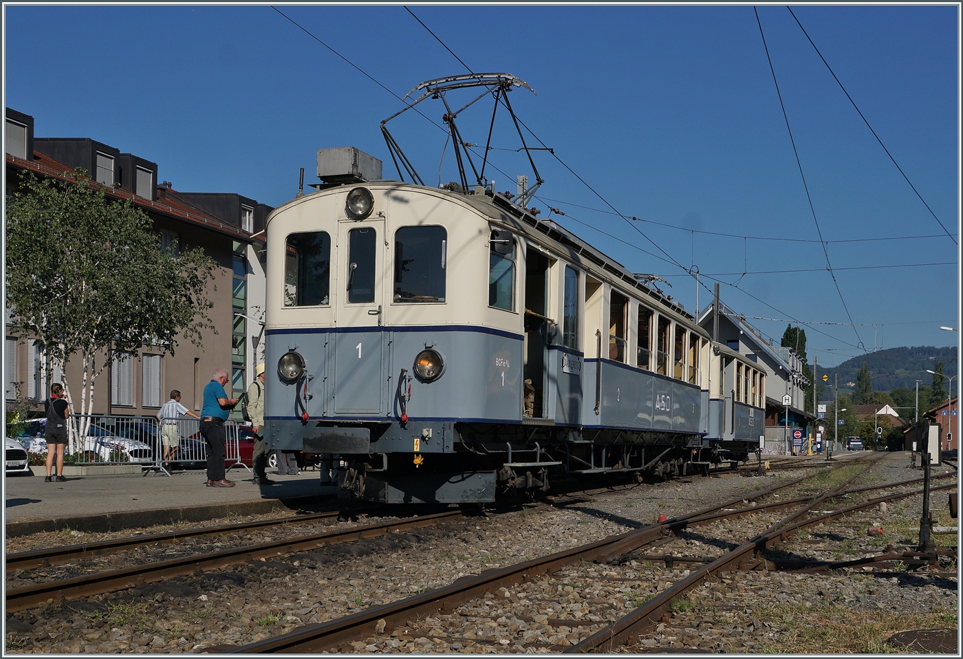
{"label": "right-hand window on the railcar's cream front, right of the door", "polygon": [[395,302],[445,302],[447,238],[444,226],[403,226],[395,232]]}

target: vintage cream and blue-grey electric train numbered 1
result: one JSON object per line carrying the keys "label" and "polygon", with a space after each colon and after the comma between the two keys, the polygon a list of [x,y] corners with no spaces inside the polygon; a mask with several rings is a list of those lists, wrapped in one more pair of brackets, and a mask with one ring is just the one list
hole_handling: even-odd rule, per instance
{"label": "vintage cream and blue-grey electric train numbered 1", "polygon": [[335,456],[359,498],[485,502],[758,447],[754,362],[559,224],[450,187],[345,183],[273,211],[270,448]]}

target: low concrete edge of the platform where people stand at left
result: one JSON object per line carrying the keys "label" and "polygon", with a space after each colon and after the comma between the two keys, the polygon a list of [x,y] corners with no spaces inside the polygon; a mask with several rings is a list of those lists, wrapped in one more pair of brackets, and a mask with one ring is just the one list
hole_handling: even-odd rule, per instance
{"label": "low concrete edge of the platform where people stand at left", "polygon": [[123,529],[137,529],[159,524],[177,522],[198,522],[222,517],[227,514],[267,514],[273,511],[295,513],[299,502],[317,501],[317,496],[292,499],[254,499],[230,503],[184,506],[174,509],[150,511],[126,511],[123,513],[86,514],[71,517],[51,517],[47,519],[23,519],[7,522],[7,538],[29,536],[35,533],[56,531],[84,531],[105,533]]}

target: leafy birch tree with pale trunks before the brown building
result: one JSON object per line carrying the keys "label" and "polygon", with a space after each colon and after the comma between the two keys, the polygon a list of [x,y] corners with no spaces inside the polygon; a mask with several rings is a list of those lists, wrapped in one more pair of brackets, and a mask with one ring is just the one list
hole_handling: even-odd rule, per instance
{"label": "leafy birch tree with pale trunks before the brown building", "polygon": [[214,330],[206,289],[217,263],[199,248],[162,250],[131,201],[108,198],[86,171],[68,178],[25,172],[7,198],[7,303],[13,334],[36,338],[61,368],[80,358],[79,407],[66,376],[64,386],[71,409],[86,413],[110,350],[201,345],[201,331]]}

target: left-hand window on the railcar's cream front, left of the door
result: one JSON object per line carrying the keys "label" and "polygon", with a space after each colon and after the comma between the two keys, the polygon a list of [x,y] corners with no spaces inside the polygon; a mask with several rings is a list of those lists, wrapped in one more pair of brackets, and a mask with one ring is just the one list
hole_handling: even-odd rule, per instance
{"label": "left-hand window on the railcar's cream front, left of the door", "polygon": [[328,303],[331,238],[324,231],[292,233],[284,254],[284,305]]}

